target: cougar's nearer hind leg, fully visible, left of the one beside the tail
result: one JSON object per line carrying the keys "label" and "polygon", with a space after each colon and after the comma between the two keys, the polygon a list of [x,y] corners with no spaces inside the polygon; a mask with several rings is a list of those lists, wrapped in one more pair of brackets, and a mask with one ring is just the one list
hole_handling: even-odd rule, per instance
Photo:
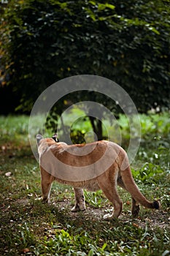
{"label": "cougar's nearer hind leg, fully visible, left of the one beside the tail", "polygon": [[112,203],[114,206],[114,212],[112,214],[106,214],[104,215],[104,219],[112,219],[112,218],[117,218],[120,216],[123,208],[123,203],[120,200],[120,197],[117,193],[117,181],[115,179],[105,179],[105,181],[102,181],[103,178],[101,177],[98,179],[98,186],[102,191],[104,192],[104,195],[109,199],[109,201]]}

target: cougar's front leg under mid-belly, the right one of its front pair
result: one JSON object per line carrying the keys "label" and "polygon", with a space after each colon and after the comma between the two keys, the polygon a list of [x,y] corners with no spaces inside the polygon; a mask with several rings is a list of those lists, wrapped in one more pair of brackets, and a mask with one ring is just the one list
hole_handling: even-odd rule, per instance
{"label": "cougar's front leg under mid-belly, the right one of its front pair", "polygon": [[72,208],[72,211],[84,211],[85,197],[84,197],[83,189],[78,189],[74,187],[74,197],[75,197],[75,205]]}

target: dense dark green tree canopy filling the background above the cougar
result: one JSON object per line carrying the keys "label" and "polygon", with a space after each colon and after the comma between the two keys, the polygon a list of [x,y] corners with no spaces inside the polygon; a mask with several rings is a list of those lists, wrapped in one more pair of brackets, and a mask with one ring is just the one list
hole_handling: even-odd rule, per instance
{"label": "dense dark green tree canopy filling the background above the cougar", "polygon": [[57,80],[101,75],[140,112],[169,108],[169,15],[169,0],[11,0],[1,16],[1,84],[31,110]]}

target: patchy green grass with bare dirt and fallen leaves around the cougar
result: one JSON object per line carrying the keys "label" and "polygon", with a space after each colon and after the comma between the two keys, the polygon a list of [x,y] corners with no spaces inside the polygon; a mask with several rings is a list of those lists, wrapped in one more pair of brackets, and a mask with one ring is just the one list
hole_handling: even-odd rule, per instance
{"label": "patchy green grass with bare dirt and fallen leaves around the cougar", "polygon": [[[123,141],[128,125],[120,117]],[[124,120],[124,121],[123,121]],[[71,187],[54,183],[51,204],[41,196],[39,166],[28,143],[28,117],[0,118],[0,255],[169,255],[169,114],[141,116],[142,143],[132,165],[136,183],[161,210],[141,207],[119,189],[123,214],[106,222],[112,205],[101,191],[85,192],[87,211],[72,213]]]}

